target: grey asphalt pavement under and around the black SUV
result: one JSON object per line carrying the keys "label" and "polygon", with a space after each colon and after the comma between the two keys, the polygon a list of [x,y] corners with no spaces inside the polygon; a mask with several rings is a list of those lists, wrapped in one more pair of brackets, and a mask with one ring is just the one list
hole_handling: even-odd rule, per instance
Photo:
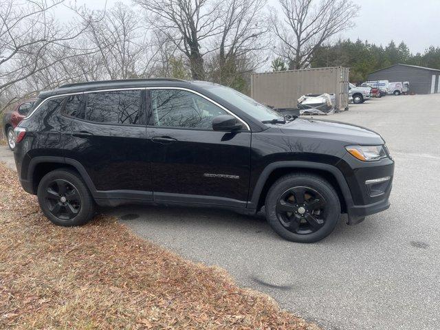
{"label": "grey asphalt pavement under and around the black SUV", "polygon": [[[223,210],[106,212],[165,248],[224,267],[325,329],[440,329],[440,94],[387,96],[320,118],[382,134],[396,160],[389,210],[356,226],[342,218],[311,245],[284,241],[263,217]],[[11,155],[0,147],[0,161]]]}

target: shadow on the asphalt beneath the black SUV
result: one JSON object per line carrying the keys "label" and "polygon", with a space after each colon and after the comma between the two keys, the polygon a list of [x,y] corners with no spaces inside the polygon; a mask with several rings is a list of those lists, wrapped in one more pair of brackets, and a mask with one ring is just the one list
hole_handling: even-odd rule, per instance
{"label": "shadow on the asphalt beneath the black SUV", "polygon": [[[148,239],[168,235],[184,235],[188,239],[218,239],[221,236],[245,236],[264,241],[285,241],[276,234],[265,220],[264,209],[256,215],[244,215],[230,210],[215,208],[182,208],[177,206],[118,206],[99,208],[98,212],[118,218],[134,230],[136,234]],[[372,216],[358,225],[347,225],[347,214],[342,214],[335,230],[320,244],[333,244],[338,241],[369,241],[379,234]]]}

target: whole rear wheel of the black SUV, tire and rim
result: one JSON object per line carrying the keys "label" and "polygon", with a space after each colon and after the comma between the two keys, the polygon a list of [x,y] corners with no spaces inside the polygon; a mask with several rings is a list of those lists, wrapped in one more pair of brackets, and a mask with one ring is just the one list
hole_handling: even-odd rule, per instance
{"label": "whole rear wheel of the black SUV, tire and rim", "polygon": [[94,216],[94,199],[83,179],[73,170],[47,173],[40,181],[37,196],[41,210],[56,225],[83,225]]}

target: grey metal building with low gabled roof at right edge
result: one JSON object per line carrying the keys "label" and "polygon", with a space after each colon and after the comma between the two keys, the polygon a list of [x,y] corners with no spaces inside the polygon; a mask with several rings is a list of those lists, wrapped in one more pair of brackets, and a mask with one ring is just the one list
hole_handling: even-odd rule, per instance
{"label": "grey metal building with low gabled roof at right edge", "polygon": [[416,94],[440,93],[440,70],[416,65],[396,64],[369,74],[369,80],[409,81],[410,92]]}

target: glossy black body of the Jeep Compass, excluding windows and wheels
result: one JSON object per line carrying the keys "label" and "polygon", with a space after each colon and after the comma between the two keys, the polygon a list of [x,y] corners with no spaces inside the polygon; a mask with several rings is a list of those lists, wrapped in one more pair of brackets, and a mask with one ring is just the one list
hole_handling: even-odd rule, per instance
{"label": "glossy black body of the Jeep Compass, excluding windows and wheels", "polygon": [[[35,194],[44,168],[70,166],[101,205],[175,203],[252,214],[263,206],[274,173],[309,170],[332,182],[349,223],[388,208],[394,170],[391,157],[362,162],[345,149],[352,144],[384,144],[380,135],[359,126],[302,118],[263,124],[211,87],[205,82],[153,79],[42,92],[40,106],[51,105],[45,111],[37,108],[21,122],[19,126],[27,133],[14,150],[23,188]],[[87,98],[92,92],[122,89],[140,91],[140,116],[135,124],[97,123],[63,113],[71,94]],[[197,93],[245,124],[228,132],[152,125],[151,89]],[[84,102],[78,109],[85,111]],[[388,176],[384,192],[369,195],[365,181]]]}

